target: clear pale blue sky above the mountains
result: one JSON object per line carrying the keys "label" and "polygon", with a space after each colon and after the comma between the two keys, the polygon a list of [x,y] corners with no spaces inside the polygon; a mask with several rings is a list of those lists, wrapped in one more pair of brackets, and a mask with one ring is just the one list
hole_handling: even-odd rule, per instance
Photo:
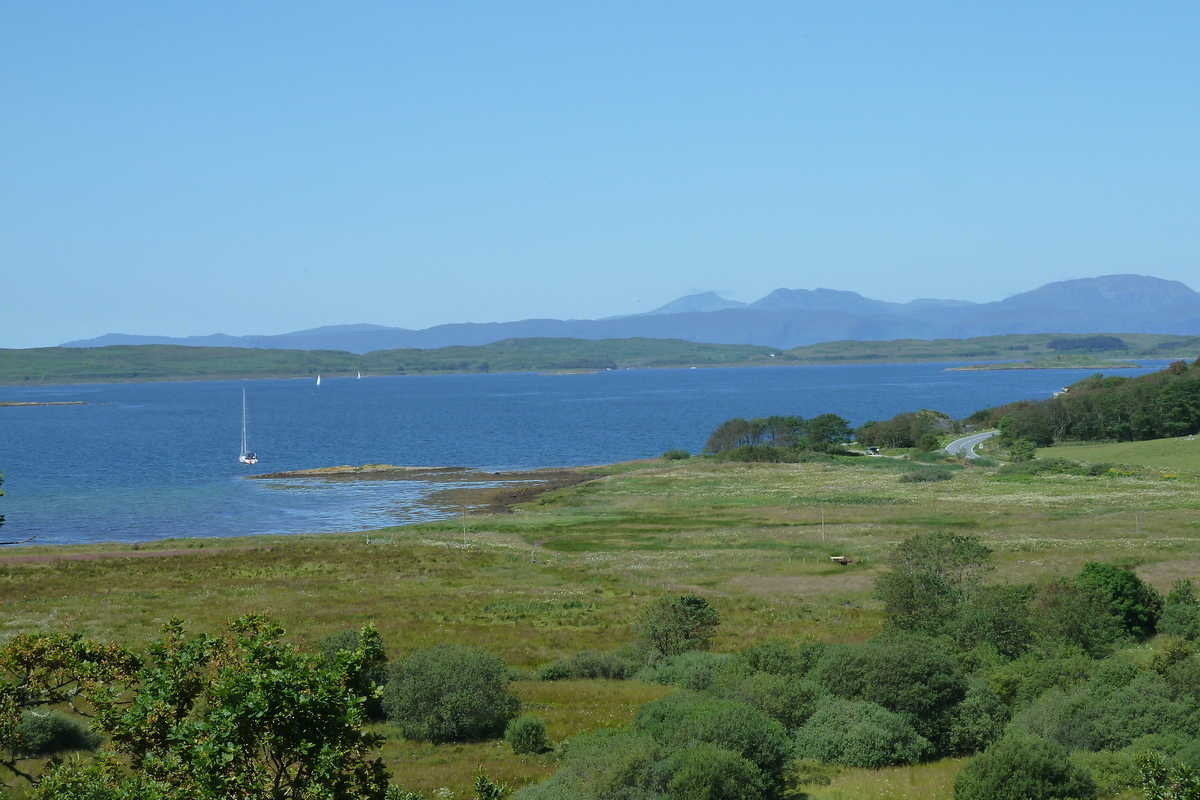
{"label": "clear pale blue sky above the mountains", "polygon": [[1200,289],[1200,4],[0,4],[0,347]]}

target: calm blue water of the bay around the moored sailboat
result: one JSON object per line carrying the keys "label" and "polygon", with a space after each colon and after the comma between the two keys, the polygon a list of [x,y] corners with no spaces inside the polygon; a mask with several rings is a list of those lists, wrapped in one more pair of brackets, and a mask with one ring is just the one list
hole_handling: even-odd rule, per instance
{"label": "calm blue water of the bay around the moored sailboat", "polygon": [[[242,476],[366,463],[608,463],[671,447],[695,452],[733,416],[828,411],[860,425],[934,408],[961,417],[1048,397],[1091,372],[946,366],[0,387],[0,401],[86,403],[0,408],[7,517],[0,539],[36,535],[44,545],[379,528],[437,515],[422,504],[430,487]],[[236,462],[242,389],[257,467]]]}

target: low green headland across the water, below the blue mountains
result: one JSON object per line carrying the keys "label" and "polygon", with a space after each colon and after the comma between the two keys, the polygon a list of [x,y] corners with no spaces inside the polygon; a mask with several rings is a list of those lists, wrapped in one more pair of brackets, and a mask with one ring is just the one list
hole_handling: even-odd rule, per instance
{"label": "low green headland across the water, below the blue mountains", "polygon": [[[1066,355],[1115,365],[1128,359],[1194,359],[1198,354],[1200,336],[1157,333],[1015,333],[962,339],[844,341],[790,350],[654,338],[527,338],[475,347],[403,348],[366,354],[137,344],[0,349],[0,386],[997,360],[1031,361],[1031,366],[1020,368],[1042,369],[1070,368],[1057,363],[1058,356]],[[1050,363],[1044,363],[1046,361]]]}

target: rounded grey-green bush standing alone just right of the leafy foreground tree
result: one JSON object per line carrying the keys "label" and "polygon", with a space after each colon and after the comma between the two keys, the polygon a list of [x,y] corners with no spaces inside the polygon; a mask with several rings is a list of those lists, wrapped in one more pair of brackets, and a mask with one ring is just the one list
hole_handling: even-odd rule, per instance
{"label": "rounded grey-green bush standing alone just right of the leafy foreground tree", "polygon": [[407,739],[445,742],[499,735],[521,702],[498,656],[454,644],[416,650],[388,667],[383,708]]}

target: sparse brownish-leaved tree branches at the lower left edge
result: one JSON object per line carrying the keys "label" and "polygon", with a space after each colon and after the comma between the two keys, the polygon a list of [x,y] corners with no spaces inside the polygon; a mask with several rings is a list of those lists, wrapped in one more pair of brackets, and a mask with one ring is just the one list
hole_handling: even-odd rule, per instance
{"label": "sparse brownish-leaved tree branches at the lower left edge", "polygon": [[[20,633],[0,648],[0,764],[34,782],[20,764],[40,756],[41,736],[29,712],[65,706],[90,698],[109,686],[125,686],[137,673],[138,658],[116,645],[100,644],[77,633]],[[47,744],[43,741],[43,744]]]}

